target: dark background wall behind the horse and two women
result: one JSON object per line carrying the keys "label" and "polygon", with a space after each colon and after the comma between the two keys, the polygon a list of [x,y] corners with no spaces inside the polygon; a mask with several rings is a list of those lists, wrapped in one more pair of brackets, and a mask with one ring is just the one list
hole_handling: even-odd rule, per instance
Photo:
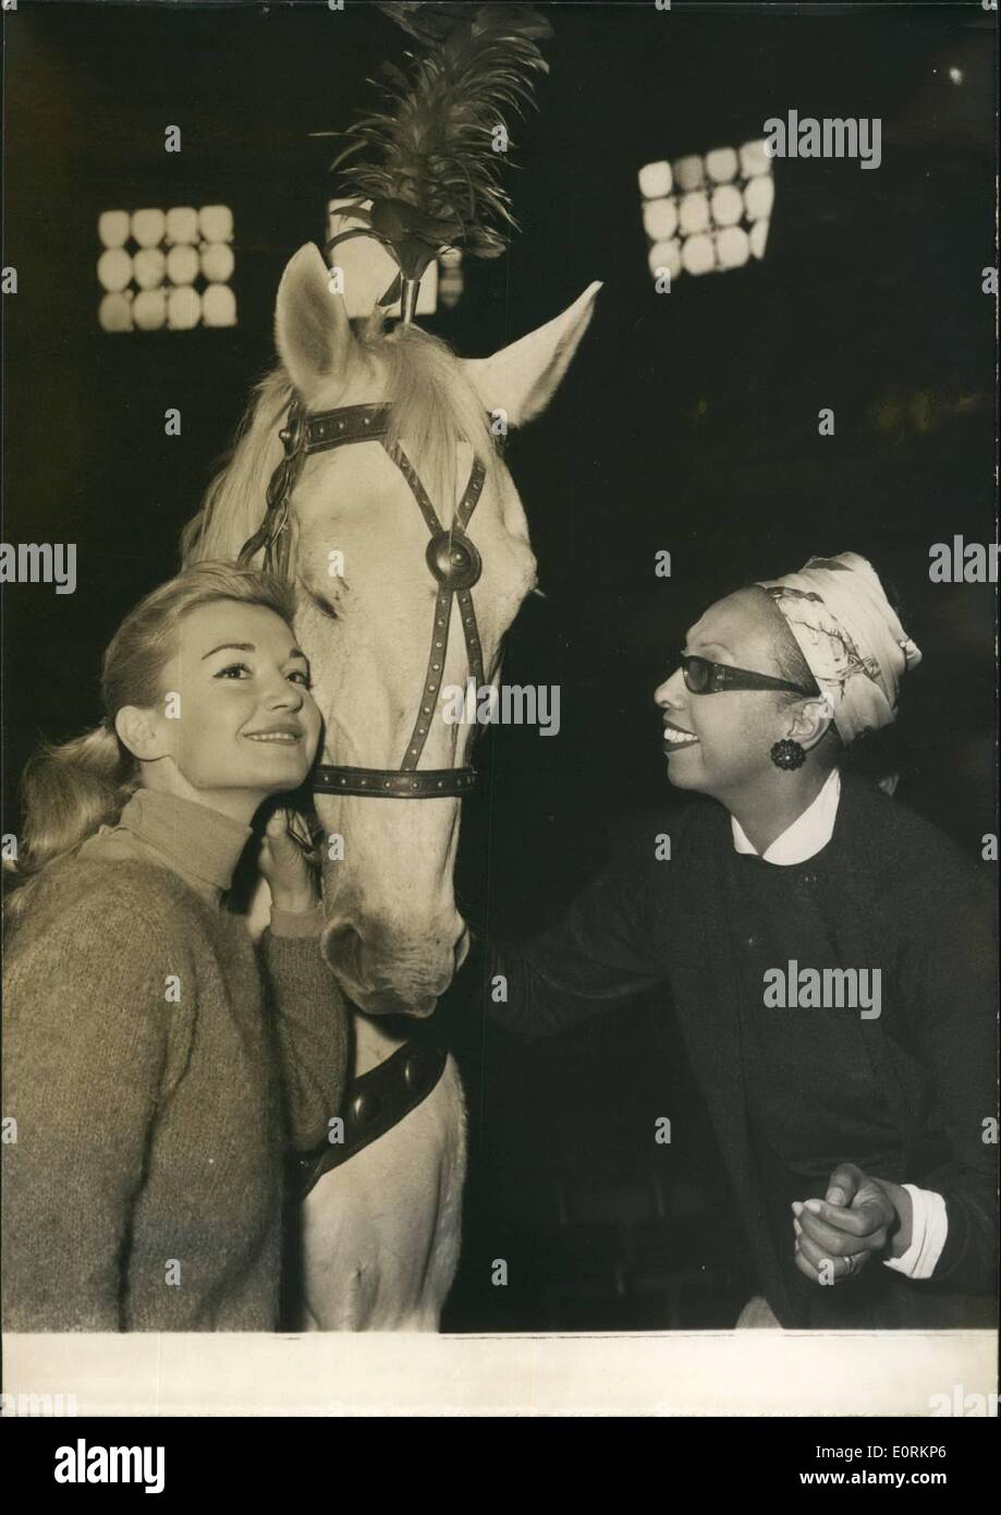
{"label": "dark background wall behind the horse and two women", "polygon": [[[995,829],[995,589],[928,582],[928,547],[995,539],[996,18],[966,6],[547,6],[539,114],[515,132],[521,233],[465,262],[426,324],[479,356],[606,288],[550,412],[515,436],[547,600],[512,683],[559,683],[562,730],[497,729],[459,892],[516,933],[559,914],[609,836],[666,798],[653,688],[737,583],[847,548],[903,595],[925,661],[900,797],[971,856]],[[100,651],[176,567],[177,533],[273,362],[291,253],[323,241],[332,144],[406,39],[371,6],[77,6],[5,17],[3,539],[76,541],[79,588],[6,586],[5,832],[39,733],[94,724]],[[950,68],[960,68],[953,83]],[[765,259],[647,271],[636,170],[737,145],[771,115],[880,117],[883,164],[780,161]],[[164,130],[183,150],[165,153]],[[239,324],[104,335],[104,209],[233,208]],[[182,435],[164,435],[164,412]],[[818,435],[818,411],[836,435]],[[656,579],[668,548],[674,574]],[[482,1018],[474,957],[444,1006],[469,1094],[466,1245],[447,1324],[730,1326],[745,1294],[712,1141],[669,1023],[622,1007],[525,1048]],[[674,1120],[654,1147],[654,1118]],[[491,1262],[509,1262],[507,1288]]]}

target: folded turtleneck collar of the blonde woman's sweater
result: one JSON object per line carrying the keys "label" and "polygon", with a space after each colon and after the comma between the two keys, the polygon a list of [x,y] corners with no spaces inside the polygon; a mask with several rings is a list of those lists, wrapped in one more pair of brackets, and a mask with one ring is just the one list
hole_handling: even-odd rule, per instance
{"label": "folded turtleneck collar of the blonde woman's sweater", "polygon": [[220,892],[233,882],[250,836],[250,826],[164,789],[136,789],[117,829],[151,847],[194,886]]}

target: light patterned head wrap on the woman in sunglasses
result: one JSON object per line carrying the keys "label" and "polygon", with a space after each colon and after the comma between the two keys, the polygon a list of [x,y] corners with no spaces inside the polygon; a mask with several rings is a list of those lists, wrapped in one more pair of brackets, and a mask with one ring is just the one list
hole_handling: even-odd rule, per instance
{"label": "light patterned head wrap on the woman in sunglasses", "polygon": [[897,720],[900,680],[921,662],[872,564],[859,553],[810,558],[800,573],[759,580],[784,617],[848,744]]}

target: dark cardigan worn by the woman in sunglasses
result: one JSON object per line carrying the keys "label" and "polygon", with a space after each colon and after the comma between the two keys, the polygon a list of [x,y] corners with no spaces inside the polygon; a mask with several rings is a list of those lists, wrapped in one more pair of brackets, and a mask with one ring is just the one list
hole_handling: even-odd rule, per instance
{"label": "dark cardigan worn by the woman in sunglasses", "polygon": [[[656,857],[654,835],[662,832],[671,836],[671,861]],[[842,964],[881,970],[881,1015],[859,1021],[857,1073],[878,1115],[874,1147],[886,1153],[886,1132],[895,1133],[893,1171],[874,1176],[942,1194],[948,1239],[928,1280],[874,1259],[860,1274],[878,1270],[868,1285],[818,1285],[804,1295],[789,1288],[780,1265],[748,1127],[744,964],[725,907],[731,856],[730,817],[715,801],[697,800],[662,818],[621,850],[556,927],[495,950],[492,973],[507,979],[507,1003],[491,1003],[491,1015],[512,1030],[547,1035],[630,994],[669,988],[760,1288],[780,1323],[989,1324],[996,1277],[996,1145],[984,1141],[984,1123],[996,1114],[992,895],[939,830],[862,780],[845,779],[816,883]],[[854,1094],[857,1100],[857,1088]],[[836,1077],[825,1097],[836,1101]],[[840,1160],[865,1167],[863,1156],[847,1150]],[[789,1250],[792,1244],[791,1221]]]}

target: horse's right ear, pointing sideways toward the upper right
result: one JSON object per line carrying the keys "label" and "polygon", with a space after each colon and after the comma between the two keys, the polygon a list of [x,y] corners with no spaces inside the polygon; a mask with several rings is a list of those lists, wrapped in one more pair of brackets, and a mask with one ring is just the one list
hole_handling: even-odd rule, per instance
{"label": "horse's right ear, pointing sideways toward the upper right", "polygon": [[545,411],[588,330],[600,288],[600,282],[588,285],[562,315],[492,358],[462,361],[466,379],[488,411],[504,411],[509,426],[524,426]]}

